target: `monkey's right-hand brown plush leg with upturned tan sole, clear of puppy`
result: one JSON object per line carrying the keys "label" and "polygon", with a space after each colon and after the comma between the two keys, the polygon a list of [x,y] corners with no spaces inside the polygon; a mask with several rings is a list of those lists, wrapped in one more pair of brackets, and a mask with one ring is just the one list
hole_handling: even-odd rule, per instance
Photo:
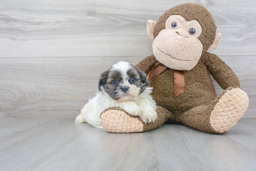
{"label": "monkey's right-hand brown plush leg with upturned tan sole, clear of puppy", "polygon": [[243,116],[249,104],[247,94],[239,87],[224,90],[210,105],[201,105],[181,114],[177,121],[210,133],[231,129]]}

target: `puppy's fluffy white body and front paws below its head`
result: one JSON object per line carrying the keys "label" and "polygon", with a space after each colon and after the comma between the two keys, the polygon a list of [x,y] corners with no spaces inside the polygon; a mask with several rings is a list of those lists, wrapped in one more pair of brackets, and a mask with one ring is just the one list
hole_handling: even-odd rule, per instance
{"label": "puppy's fluffy white body and front paws below its head", "polygon": [[147,87],[139,96],[133,101],[118,102],[109,95],[100,91],[96,96],[89,100],[89,102],[81,110],[80,115],[77,116],[75,122],[89,124],[103,128],[100,121],[100,114],[109,107],[117,107],[125,110],[127,113],[139,116],[143,122],[154,122],[157,119],[156,103],[150,96],[152,92],[151,87]]}

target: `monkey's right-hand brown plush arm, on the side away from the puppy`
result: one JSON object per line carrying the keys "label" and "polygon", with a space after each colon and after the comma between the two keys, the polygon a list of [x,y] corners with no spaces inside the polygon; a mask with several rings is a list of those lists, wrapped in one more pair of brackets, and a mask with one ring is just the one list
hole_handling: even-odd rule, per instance
{"label": "monkey's right-hand brown plush arm, on the side away from the puppy", "polygon": [[202,57],[210,74],[222,89],[225,90],[234,86],[240,87],[240,82],[234,71],[217,55],[206,52]]}

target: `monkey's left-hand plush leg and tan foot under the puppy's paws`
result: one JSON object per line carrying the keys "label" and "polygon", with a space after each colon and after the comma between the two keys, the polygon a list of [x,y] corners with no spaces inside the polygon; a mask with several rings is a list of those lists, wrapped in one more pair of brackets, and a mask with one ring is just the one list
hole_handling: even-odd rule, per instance
{"label": "monkey's left-hand plush leg and tan foot under the puppy's paws", "polygon": [[173,118],[172,113],[161,106],[157,106],[156,113],[157,119],[155,122],[144,123],[139,116],[132,116],[120,108],[111,107],[105,109],[100,118],[103,128],[108,132],[144,132],[157,128],[167,119]]}

